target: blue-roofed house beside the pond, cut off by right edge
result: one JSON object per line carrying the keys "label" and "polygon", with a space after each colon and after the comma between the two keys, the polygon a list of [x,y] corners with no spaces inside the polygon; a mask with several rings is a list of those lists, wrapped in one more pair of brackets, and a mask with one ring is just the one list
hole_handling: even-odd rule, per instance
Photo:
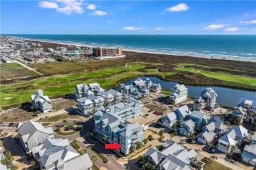
{"label": "blue-roofed house beside the pond, cut off by right edge", "polygon": [[243,119],[246,122],[255,122],[255,116],[256,116],[256,99],[250,98],[250,97],[240,97],[238,101],[238,107],[242,107],[242,110],[244,110],[245,115]]}

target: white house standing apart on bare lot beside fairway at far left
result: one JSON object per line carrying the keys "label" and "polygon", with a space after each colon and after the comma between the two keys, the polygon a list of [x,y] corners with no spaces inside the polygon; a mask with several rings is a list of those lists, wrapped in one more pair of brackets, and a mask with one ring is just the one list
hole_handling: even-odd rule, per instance
{"label": "white house standing apart on bare lot beside fairway at far left", "polygon": [[37,90],[31,95],[32,106],[41,112],[52,110],[51,100],[47,95],[43,95],[43,90]]}

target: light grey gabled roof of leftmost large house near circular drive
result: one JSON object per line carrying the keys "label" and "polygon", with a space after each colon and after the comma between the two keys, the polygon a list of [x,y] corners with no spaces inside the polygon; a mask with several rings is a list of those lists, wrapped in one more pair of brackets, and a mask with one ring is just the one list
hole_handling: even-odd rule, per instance
{"label": "light grey gabled roof of leftmost large house near circular drive", "polygon": [[28,141],[28,139],[37,131],[46,134],[53,133],[53,127],[43,127],[41,124],[37,122],[33,122],[32,120],[27,120],[19,129],[18,133],[22,136],[24,143]]}

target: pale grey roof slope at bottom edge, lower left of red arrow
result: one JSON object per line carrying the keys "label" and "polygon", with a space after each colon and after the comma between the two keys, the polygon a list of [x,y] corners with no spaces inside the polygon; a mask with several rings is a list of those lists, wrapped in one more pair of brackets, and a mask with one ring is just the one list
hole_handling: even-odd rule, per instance
{"label": "pale grey roof slope at bottom edge, lower left of red arrow", "polygon": [[82,156],[79,156],[74,160],[70,160],[64,163],[64,169],[66,170],[82,170],[88,169],[89,167],[92,166],[93,163],[91,162],[91,159],[89,158],[88,154],[83,154]]}

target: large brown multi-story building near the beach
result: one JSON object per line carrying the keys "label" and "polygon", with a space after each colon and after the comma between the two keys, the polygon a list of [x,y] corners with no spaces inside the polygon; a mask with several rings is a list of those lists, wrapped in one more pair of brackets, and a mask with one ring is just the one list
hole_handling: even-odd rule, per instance
{"label": "large brown multi-story building near the beach", "polygon": [[121,56],[122,48],[93,48],[93,56],[104,57],[104,56]]}

